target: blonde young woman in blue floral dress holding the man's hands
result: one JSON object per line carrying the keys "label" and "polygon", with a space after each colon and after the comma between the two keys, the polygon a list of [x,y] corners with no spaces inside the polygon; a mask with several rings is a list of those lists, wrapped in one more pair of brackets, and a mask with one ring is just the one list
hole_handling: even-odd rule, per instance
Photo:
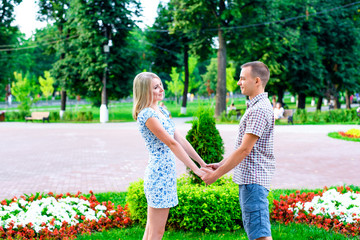
{"label": "blonde young woman in blue floral dress holding the man's hands", "polygon": [[156,74],[138,74],[134,79],[133,97],[133,117],[150,153],[144,178],[148,213],[143,240],[162,239],[169,209],[178,204],[175,156],[200,177],[204,172],[190,157],[201,167],[206,167],[206,163],[175,130],[168,112],[158,105],[164,99],[164,88]]}

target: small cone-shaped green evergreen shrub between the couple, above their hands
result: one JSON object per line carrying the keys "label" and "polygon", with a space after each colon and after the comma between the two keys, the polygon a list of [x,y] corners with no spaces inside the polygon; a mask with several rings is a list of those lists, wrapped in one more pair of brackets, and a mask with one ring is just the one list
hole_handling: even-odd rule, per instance
{"label": "small cone-shaped green evergreen shrub between the couple, above their hands", "polygon": [[[194,115],[192,127],[186,139],[206,163],[219,162],[223,158],[224,143],[215,125],[214,111],[211,108],[200,107]],[[190,171],[195,182],[202,182]]]}

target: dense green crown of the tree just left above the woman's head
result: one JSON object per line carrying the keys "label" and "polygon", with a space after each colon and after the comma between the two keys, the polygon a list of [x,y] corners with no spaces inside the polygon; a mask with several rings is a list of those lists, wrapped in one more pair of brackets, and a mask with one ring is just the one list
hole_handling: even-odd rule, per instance
{"label": "dense green crown of the tree just left above the woman's head", "polygon": [[[135,27],[132,14],[138,14],[138,8],[135,0],[72,2],[69,28],[77,37],[69,40],[67,64],[57,67],[71,74],[67,88],[72,93],[88,97],[95,105],[129,95],[138,61],[127,46]],[[104,46],[109,46],[110,40],[107,54]]]}

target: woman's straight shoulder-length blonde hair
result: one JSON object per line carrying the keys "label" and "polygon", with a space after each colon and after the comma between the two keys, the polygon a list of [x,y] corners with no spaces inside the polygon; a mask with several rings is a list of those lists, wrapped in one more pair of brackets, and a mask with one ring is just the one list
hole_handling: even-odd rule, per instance
{"label": "woman's straight shoulder-length blonde hair", "polygon": [[[144,108],[147,108],[153,102],[151,92],[151,82],[153,78],[159,78],[155,73],[142,72],[136,75],[133,83],[133,118],[137,116]],[[159,78],[160,79],[160,78]]]}

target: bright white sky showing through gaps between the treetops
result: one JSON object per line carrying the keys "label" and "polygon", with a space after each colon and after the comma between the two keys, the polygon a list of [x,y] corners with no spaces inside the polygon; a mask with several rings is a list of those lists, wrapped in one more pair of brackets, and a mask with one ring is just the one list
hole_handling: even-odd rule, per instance
{"label": "bright white sky showing through gaps between the treetops", "polygon": [[[143,24],[139,24],[139,27],[144,28],[145,25],[151,26],[157,16],[156,9],[159,2],[168,2],[168,0],[140,0],[143,12],[140,19],[143,20]],[[25,33],[26,38],[29,38],[35,29],[40,29],[46,26],[46,22],[39,22],[36,20],[37,12],[39,8],[35,0],[23,0],[18,6],[15,7],[15,21],[12,25],[18,25],[20,31]]]}

